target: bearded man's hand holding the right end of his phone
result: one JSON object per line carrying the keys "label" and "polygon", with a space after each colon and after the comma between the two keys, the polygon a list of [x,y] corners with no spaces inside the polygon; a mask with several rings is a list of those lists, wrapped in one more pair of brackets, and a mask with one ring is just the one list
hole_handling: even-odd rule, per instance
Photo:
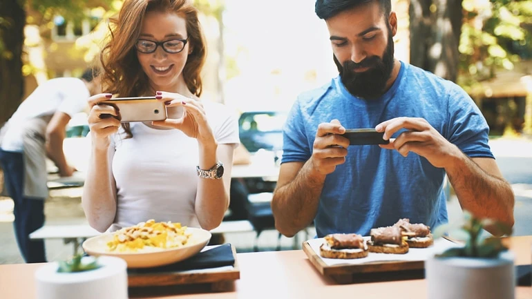
{"label": "bearded man's hand holding the right end of his phone", "polygon": [[377,132],[384,132],[385,140],[397,131],[406,129],[397,138],[390,139],[390,144],[379,146],[395,149],[403,157],[410,152],[417,153],[438,168],[445,168],[455,157],[463,155],[457,146],[448,142],[423,118],[396,117],[378,124],[375,129]]}

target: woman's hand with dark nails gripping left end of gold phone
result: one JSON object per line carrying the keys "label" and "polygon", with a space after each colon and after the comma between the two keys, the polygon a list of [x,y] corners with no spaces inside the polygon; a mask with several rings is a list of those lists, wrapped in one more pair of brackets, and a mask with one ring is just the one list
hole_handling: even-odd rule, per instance
{"label": "woman's hand with dark nails gripping left end of gold phone", "polygon": [[93,145],[101,149],[109,146],[109,136],[120,128],[120,111],[114,106],[99,104],[112,96],[110,93],[100,93],[88,98],[88,106],[91,108],[88,113],[88,126],[91,128]]}

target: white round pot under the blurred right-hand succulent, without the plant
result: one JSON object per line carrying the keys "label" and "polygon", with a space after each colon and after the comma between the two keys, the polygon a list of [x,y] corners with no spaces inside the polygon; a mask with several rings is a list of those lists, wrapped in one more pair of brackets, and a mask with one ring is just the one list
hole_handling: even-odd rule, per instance
{"label": "white round pot under the blurred right-hand succulent, without the plant", "polygon": [[428,299],[513,299],[513,254],[499,258],[435,258],[425,261]]}

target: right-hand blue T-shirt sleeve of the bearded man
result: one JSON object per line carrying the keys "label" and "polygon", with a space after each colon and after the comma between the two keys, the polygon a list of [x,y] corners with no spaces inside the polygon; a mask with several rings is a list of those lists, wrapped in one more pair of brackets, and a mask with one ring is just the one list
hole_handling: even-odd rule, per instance
{"label": "right-hand blue T-shirt sleeve of the bearded man", "polygon": [[493,157],[488,145],[489,126],[473,99],[453,86],[448,102],[447,139],[469,157]]}

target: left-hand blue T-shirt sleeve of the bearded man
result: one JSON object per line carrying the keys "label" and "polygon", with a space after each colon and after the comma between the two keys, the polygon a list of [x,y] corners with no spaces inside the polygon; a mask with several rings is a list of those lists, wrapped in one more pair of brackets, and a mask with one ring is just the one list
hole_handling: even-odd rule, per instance
{"label": "left-hand blue T-shirt sleeve of the bearded man", "polygon": [[312,155],[307,136],[303,111],[299,101],[294,103],[283,126],[283,157],[281,163],[305,162]]}

